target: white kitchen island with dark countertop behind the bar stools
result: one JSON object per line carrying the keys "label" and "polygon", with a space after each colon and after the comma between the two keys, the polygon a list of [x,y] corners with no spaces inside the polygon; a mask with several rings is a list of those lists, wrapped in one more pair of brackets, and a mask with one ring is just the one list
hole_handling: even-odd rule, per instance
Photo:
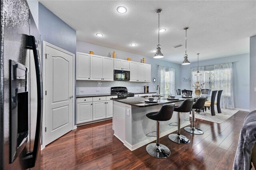
{"label": "white kitchen island with dark countertop behind the bar stools", "polygon": [[[180,105],[185,99],[170,101],[166,97],[155,97],[158,103],[146,103],[144,97],[126,97],[114,98],[113,100],[113,130],[114,135],[130,149],[135,150],[149,142],[156,140],[156,137],[148,137],[146,134],[156,131],[156,121],[148,119],[147,113],[160,111],[162,105],[175,103]],[[189,118],[189,113],[181,114],[181,128],[190,125],[190,121],[184,121]],[[160,122],[160,137],[170,134],[177,130],[176,126],[170,126],[169,123],[177,122],[178,113],[174,112],[172,119]],[[175,125],[175,124],[174,124]],[[155,135],[156,133],[153,133]],[[172,142],[170,140],[170,142]]]}

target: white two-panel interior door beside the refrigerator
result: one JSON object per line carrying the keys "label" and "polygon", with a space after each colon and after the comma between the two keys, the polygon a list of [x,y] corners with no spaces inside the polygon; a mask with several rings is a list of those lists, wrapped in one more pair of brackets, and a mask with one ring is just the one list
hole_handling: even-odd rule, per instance
{"label": "white two-panel interior door beside the refrigerator", "polygon": [[58,47],[45,47],[45,145],[72,130],[74,55]]}

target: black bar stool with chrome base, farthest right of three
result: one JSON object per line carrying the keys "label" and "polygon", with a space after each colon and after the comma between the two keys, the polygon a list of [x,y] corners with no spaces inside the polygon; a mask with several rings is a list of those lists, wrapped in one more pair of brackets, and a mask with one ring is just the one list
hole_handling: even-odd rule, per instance
{"label": "black bar stool with chrome base, farthest right of three", "polygon": [[195,109],[203,109],[204,103],[206,102],[206,97],[200,97],[196,100],[196,102],[192,106],[192,127],[185,127],[184,129],[192,134],[204,134],[204,131],[195,128]]}

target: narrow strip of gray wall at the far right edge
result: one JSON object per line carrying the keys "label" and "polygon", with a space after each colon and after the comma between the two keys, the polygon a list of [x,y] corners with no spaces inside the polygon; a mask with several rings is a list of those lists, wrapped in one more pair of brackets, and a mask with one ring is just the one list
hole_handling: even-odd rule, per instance
{"label": "narrow strip of gray wall at the far right edge", "polygon": [[256,36],[250,37],[250,111],[256,109]]}

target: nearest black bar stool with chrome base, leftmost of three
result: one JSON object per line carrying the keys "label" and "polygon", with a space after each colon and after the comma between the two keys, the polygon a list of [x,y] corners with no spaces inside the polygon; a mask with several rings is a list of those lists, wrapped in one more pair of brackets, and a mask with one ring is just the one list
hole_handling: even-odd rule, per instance
{"label": "nearest black bar stool with chrome base, leftmost of three", "polygon": [[156,123],[156,143],[150,143],[146,146],[148,154],[155,158],[167,158],[171,151],[169,148],[159,143],[159,121],[168,121],[172,118],[175,104],[163,105],[159,112],[151,112],[146,114],[146,117],[157,121]]}

